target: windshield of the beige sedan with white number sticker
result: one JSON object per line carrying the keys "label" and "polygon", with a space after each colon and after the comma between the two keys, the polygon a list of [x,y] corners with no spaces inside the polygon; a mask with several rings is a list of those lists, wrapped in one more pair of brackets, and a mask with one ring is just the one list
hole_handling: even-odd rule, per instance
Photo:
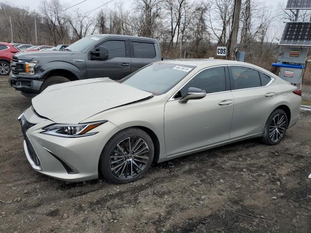
{"label": "windshield of the beige sedan with white number sticker", "polygon": [[162,95],[186,77],[193,66],[154,63],[126,76],[120,83]]}

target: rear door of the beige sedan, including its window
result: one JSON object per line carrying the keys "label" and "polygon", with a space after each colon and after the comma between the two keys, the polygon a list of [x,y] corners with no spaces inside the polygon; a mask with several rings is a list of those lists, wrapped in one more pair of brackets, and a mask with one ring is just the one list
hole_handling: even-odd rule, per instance
{"label": "rear door of the beige sedan, including its window", "polygon": [[278,102],[273,78],[251,67],[228,66],[234,112],[230,138],[263,131],[266,120]]}

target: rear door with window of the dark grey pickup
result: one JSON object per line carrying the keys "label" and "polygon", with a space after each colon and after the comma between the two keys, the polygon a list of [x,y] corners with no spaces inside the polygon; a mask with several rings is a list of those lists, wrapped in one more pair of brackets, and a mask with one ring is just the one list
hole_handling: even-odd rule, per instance
{"label": "rear door with window of the dark grey pickup", "polygon": [[150,63],[159,61],[160,54],[153,40],[129,39],[131,48],[131,73]]}

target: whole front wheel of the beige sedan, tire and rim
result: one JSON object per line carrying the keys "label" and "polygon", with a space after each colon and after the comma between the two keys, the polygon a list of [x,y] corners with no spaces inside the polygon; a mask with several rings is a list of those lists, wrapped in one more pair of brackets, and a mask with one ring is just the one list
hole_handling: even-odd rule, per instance
{"label": "whole front wheel of the beige sedan, tire and rim", "polygon": [[112,183],[130,183],[143,177],[154,158],[151,137],[138,128],[112,136],[102,151],[100,170]]}

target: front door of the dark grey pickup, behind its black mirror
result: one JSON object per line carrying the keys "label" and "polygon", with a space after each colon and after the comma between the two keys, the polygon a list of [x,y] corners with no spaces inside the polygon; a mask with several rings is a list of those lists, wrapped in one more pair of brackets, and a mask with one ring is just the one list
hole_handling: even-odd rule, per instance
{"label": "front door of the dark grey pickup, behind its black mirror", "polygon": [[[91,59],[88,54],[86,63],[87,78],[120,80],[131,73],[131,58],[127,38],[107,38],[102,44],[108,50],[108,59]],[[97,49],[97,48],[95,48]],[[90,53],[90,51],[88,51]]]}

